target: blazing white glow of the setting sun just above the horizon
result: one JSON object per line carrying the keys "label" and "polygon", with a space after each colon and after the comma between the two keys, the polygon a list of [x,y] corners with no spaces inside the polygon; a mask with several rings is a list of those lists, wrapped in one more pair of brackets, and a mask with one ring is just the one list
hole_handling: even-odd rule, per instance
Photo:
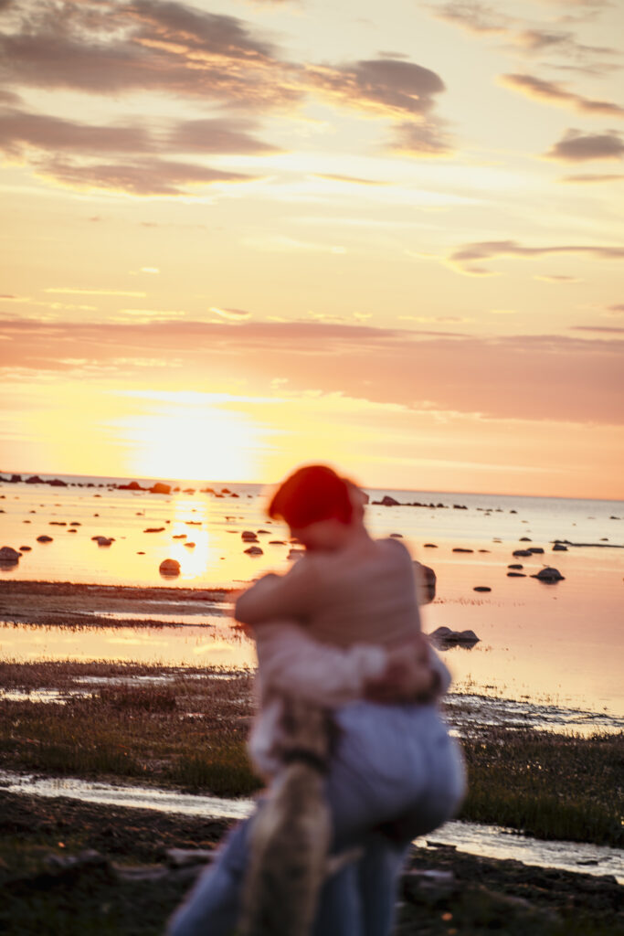
{"label": "blazing white glow of the setting sun just above the horizon", "polygon": [[261,427],[238,411],[164,405],[124,429],[133,475],[249,481],[257,474]]}

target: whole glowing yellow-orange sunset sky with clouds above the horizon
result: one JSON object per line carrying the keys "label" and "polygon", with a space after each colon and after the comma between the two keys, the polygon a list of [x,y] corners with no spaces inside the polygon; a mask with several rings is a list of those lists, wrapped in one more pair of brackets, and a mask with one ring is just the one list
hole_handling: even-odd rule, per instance
{"label": "whole glowing yellow-orange sunset sky with clouds above the horizon", "polygon": [[0,0],[0,470],[624,497],[623,36]]}

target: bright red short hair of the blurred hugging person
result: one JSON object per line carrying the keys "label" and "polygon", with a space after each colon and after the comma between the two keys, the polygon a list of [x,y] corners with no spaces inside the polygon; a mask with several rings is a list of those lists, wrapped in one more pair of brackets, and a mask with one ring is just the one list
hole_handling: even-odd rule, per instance
{"label": "bright red short hair of the blurred hugging person", "polygon": [[350,482],[327,465],[298,468],[282,482],[268,505],[271,519],[283,519],[292,530],[318,520],[349,523],[353,515]]}

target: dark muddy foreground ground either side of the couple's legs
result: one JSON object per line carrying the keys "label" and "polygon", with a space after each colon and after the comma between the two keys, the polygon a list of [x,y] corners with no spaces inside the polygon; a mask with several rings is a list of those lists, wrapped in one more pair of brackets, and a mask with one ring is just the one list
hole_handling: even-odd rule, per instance
{"label": "dark muddy foreground ground either side of the couple's legs", "polygon": [[[211,851],[227,825],[0,791],[0,932],[162,933],[198,867],[174,867],[171,850]],[[414,849],[401,883],[396,931],[400,936],[619,936],[623,896],[624,888],[612,877],[531,868],[433,846]]]}

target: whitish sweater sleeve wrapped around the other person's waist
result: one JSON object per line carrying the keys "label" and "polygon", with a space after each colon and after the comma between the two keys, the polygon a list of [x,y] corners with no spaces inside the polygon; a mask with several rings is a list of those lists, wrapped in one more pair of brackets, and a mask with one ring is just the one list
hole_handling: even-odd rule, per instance
{"label": "whitish sweater sleeve wrapped around the other person's waist", "polygon": [[341,650],[313,640],[294,623],[267,622],[255,636],[263,695],[275,690],[336,708],[362,698],[369,680],[385,670],[382,647]]}

